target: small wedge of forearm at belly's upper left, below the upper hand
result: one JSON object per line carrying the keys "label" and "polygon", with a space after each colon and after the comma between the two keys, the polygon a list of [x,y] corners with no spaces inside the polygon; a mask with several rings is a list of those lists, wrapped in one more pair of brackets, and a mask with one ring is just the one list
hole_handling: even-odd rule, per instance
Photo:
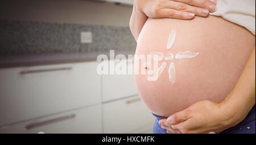
{"label": "small wedge of forearm at belly's upper left, below the upper hand", "polygon": [[139,34],[141,33],[141,30],[146,23],[147,18],[148,17],[146,14],[137,10],[134,3],[133,13],[131,14],[130,19],[130,29],[136,41],[138,40]]}

